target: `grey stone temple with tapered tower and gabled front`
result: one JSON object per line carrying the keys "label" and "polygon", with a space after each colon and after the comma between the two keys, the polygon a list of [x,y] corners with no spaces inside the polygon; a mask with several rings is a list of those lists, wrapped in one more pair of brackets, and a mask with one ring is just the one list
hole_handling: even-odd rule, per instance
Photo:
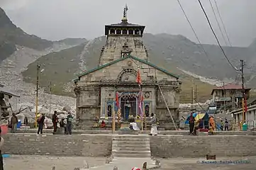
{"label": "grey stone temple with tapered tower and gabled front", "polygon": [[126,13],[125,8],[121,23],[105,26],[107,40],[98,67],[79,74],[74,80],[78,125],[90,128],[95,118],[111,120],[117,110],[116,96],[123,121],[129,115],[137,116],[140,88],[136,77],[140,70],[143,114],[149,118],[155,113],[160,127],[169,129],[172,120],[167,106],[174,120],[178,120],[181,82],[176,75],[150,63],[142,40],[145,26],[128,23]]}

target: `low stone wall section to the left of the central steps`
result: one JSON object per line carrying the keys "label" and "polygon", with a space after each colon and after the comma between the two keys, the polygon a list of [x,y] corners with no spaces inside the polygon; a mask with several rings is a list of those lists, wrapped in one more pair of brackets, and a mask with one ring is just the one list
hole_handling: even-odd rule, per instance
{"label": "low stone wall section to the left of the central steps", "polygon": [[107,157],[111,155],[110,135],[4,135],[2,154]]}

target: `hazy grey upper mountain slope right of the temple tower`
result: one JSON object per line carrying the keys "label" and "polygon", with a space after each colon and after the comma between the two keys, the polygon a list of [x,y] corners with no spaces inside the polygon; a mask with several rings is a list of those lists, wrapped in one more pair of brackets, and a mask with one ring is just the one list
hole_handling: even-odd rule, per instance
{"label": "hazy grey upper mountain slope right of the temple tower", "polygon": [[[152,55],[168,60],[181,69],[203,77],[235,79],[236,73],[217,45],[203,45],[206,57],[199,45],[182,35],[145,34],[144,42]],[[240,59],[251,60],[252,57],[252,52],[246,47],[223,47],[223,50],[235,67],[240,64]]]}

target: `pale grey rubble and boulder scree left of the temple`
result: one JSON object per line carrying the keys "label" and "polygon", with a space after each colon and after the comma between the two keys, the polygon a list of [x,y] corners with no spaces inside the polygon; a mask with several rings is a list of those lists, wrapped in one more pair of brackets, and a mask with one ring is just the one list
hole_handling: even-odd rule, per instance
{"label": "pale grey rubble and boulder scree left of the temple", "polygon": [[[23,108],[27,108],[17,115],[23,122],[25,116],[28,121],[35,121],[35,84],[28,84],[23,81],[21,72],[26,70],[28,64],[37,60],[40,56],[46,55],[52,51],[65,49],[65,46],[52,47],[45,51],[32,50],[27,47],[17,47],[18,50],[10,57],[0,63],[0,84],[18,94],[20,98],[13,97],[9,101],[14,112],[18,113]],[[50,112],[51,107],[51,113]],[[38,113],[45,113],[47,118],[54,111],[60,113],[60,117],[67,115],[67,108],[75,115],[75,99],[66,96],[56,96],[45,94],[43,89],[38,91]],[[65,109],[63,109],[65,108]],[[64,110],[64,111],[63,111]],[[50,120],[51,122],[51,120]]]}

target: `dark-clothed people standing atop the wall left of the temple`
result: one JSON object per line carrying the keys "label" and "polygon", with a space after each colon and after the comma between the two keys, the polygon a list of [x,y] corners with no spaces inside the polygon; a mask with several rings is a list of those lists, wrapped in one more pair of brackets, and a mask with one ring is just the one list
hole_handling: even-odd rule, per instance
{"label": "dark-clothed people standing atop the wall left of the temple", "polygon": [[[71,135],[72,134],[72,120],[73,120],[73,116],[72,114],[69,112],[67,115],[67,118],[62,118],[59,119],[57,117],[57,111],[54,111],[53,115],[52,115],[52,124],[53,124],[53,135],[56,134],[57,132],[57,124],[59,123],[60,128],[64,128],[65,130],[65,134],[66,135]],[[42,134],[43,133],[43,125],[45,124],[45,114],[42,113],[40,115],[40,117],[37,120],[38,123],[38,135],[39,133]]]}

